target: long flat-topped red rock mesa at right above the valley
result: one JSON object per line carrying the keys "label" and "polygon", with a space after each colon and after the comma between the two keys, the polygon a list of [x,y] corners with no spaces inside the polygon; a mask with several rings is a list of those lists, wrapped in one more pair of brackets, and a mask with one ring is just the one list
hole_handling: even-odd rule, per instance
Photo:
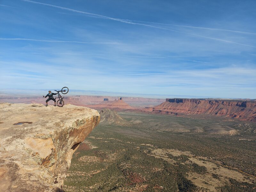
{"label": "long flat-topped red rock mesa at right above the valley", "polygon": [[166,99],[152,108],[176,114],[205,114],[256,121],[256,102],[239,100]]}

